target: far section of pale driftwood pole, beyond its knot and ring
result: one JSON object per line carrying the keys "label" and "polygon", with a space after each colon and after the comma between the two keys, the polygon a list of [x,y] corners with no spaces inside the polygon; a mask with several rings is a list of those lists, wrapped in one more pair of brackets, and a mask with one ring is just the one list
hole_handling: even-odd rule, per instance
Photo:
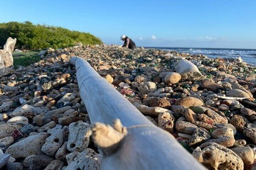
{"label": "far section of pale driftwood pole, beyond its knot and ring", "polygon": [[[71,58],[71,64],[73,63]],[[102,78],[87,61],[77,58],[76,77],[80,97],[85,103],[91,123],[112,124],[119,118],[123,126],[151,125],[151,121]]]}

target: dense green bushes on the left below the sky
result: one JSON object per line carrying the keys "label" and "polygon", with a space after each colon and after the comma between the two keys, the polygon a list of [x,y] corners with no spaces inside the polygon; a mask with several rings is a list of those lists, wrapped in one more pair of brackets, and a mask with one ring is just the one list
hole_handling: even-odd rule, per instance
{"label": "dense green bushes on the left below the sky", "polygon": [[33,25],[31,22],[0,23],[0,46],[4,46],[6,39],[16,38],[16,45],[23,49],[54,49],[82,44],[102,44],[101,39],[90,33],[71,31],[62,27],[48,25]]}

